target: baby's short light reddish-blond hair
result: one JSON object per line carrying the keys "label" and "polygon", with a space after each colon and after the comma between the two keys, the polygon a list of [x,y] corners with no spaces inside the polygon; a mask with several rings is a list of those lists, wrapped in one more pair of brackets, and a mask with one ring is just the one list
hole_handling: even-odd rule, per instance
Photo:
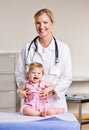
{"label": "baby's short light reddish-blond hair", "polygon": [[40,68],[42,69],[42,74],[44,75],[44,68],[43,68],[43,65],[41,63],[38,63],[38,62],[33,62],[31,63],[29,66],[28,66],[28,69],[27,69],[27,72],[26,72],[26,76],[27,78],[29,77],[29,73],[35,69],[35,68]]}

